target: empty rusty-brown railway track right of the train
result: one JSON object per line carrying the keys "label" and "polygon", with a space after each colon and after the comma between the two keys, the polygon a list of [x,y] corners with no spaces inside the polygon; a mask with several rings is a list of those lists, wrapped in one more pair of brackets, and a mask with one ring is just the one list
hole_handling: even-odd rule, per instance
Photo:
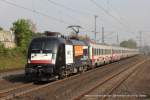
{"label": "empty rusty-brown railway track right of the train", "polygon": [[[137,63],[136,65],[134,65],[133,67],[129,66],[126,69],[123,69],[122,71],[108,77],[106,80],[100,82],[99,84],[95,85],[94,87],[92,87],[91,89],[83,92],[81,95],[74,97],[73,100],[88,100],[88,98],[102,98],[101,100],[106,100],[108,97],[110,97],[110,95],[125,81],[127,80],[138,68],[140,65],[144,64],[146,61],[150,60],[150,58],[141,61],[140,63]],[[94,90],[96,90],[98,87],[101,87],[102,85],[106,84],[107,82],[111,81],[113,78],[121,75],[122,73],[127,72],[128,74],[122,79],[120,80],[115,86],[113,86],[107,93],[106,95],[88,95],[91,92],[93,92]],[[142,97],[146,97],[145,95],[141,95]]]}

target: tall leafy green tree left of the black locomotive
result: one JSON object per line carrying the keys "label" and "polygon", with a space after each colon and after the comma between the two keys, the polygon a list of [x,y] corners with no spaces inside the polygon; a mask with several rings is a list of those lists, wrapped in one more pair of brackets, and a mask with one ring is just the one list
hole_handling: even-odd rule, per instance
{"label": "tall leafy green tree left of the black locomotive", "polygon": [[15,33],[15,41],[18,47],[26,51],[29,42],[32,39],[33,32],[31,31],[31,24],[28,20],[19,19],[13,23],[12,30]]}

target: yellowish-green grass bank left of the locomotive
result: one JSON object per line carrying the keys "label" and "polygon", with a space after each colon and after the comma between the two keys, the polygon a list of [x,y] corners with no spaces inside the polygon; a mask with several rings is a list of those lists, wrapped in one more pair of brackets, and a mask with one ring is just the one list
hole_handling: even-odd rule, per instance
{"label": "yellowish-green grass bank left of the locomotive", "polygon": [[22,54],[4,55],[0,54],[0,72],[23,69],[26,59]]}

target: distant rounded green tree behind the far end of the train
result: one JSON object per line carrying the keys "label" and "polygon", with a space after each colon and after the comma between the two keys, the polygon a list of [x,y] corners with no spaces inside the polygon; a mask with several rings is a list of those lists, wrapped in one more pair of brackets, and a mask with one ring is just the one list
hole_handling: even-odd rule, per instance
{"label": "distant rounded green tree behind the far end of the train", "polygon": [[133,39],[129,39],[127,41],[122,41],[120,43],[120,46],[127,48],[137,48],[137,43]]}

